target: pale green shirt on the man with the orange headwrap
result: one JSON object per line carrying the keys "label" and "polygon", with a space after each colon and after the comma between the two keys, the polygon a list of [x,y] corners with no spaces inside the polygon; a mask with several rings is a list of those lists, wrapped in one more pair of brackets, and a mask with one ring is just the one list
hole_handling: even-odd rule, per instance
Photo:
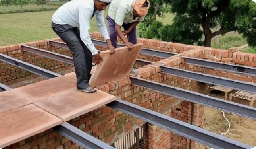
{"label": "pale green shirt on the man with the orange headwrap", "polygon": [[133,1],[135,0],[112,0],[109,5],[108,16],[120,26],[122,26],[123,23],[144,21],[145,16],[133,18]]}

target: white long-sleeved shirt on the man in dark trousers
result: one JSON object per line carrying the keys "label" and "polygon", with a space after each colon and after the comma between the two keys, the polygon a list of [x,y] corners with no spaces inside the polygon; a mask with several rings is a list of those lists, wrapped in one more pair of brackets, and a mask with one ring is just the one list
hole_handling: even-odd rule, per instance
{"label": "white long-sleeved shirt on the man in dark trousers", "polygon": [[[80,28],[80,37],[85,45],[92,52],[98,53],[89,35],[90,20],[94,12],[94,0],[71,0],[62,5],[52,16],[56,24],[68,24]],[[97,26],[105,40],[110,39],[104,22],[104,10],[95,12]]]}

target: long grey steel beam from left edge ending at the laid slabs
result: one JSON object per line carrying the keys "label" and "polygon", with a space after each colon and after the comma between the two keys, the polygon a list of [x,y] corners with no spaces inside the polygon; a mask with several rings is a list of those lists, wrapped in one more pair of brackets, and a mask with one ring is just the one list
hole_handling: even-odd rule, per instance
{"label": "long grey steel beam from left edge ending at the laid slabs", "polygon": [[37,67],[37,66],[29,64],[27,62],[23,62],[21,60],[18,60],[16,58],[12,58],[12,57],[4,55],[2,53],[0,53],[0,60],[3,61],[3,62],[6,62],[8,64],[11,64],[13,66],[16,66],[18,68],[22,68],[24,70],[32,72],[33,74],[37,74],[39,76],[42,76],[44,78],[54,78],[54,77],[57,77],[57,76],[61,76],[60,74],[57,74],[55,72],[51,72],[49,70]]}

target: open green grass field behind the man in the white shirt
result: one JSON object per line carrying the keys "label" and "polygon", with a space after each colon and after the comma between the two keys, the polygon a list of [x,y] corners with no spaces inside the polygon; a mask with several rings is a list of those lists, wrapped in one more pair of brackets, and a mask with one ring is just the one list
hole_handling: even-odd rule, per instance
{"label": "open green grass field behind the man in the white shirt", "polygon": [[[53,13],[0,14],[0,46],[58,37],[50,28]],[[98,31],[95,18],[91,21],[90,31]]]}

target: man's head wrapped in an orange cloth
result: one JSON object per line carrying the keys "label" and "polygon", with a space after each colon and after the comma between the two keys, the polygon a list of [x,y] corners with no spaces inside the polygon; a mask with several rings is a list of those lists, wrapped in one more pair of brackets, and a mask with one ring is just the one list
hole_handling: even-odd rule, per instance
{"label": "man's head wrapped in an orange cloth", "polygon": [[132,6],[134,17],[145,16],[146,14],[148,14],[150,2],[148,0],[135,0]]}

